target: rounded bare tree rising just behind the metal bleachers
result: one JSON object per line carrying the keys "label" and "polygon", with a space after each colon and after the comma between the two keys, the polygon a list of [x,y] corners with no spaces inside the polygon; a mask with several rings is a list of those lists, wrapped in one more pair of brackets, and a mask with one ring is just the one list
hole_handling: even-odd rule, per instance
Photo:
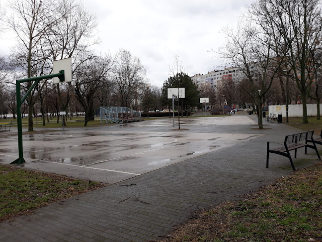
{"label": "rounded bare tree rising just behind the metal bleachers", "polygon": [[121,50],[113,74],[120,105],[132,108],[138,90],[145,83],[146,69],[140,59],[129,50]]}

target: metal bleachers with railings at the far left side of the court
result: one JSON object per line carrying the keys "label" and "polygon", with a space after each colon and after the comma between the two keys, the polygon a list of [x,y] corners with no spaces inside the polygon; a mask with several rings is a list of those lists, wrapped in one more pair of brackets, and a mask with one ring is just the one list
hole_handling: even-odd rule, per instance
{"label": "metal bleachers with railings at the far left side of the court", "polygon": [[144,121],[141,113],[126,107],[100,107],[101,123],[125,123]]}

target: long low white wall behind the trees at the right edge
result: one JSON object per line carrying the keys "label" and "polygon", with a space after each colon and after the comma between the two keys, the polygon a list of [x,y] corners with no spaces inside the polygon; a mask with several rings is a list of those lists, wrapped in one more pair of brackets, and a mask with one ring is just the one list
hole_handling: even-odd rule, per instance
{"label": "long low white wall behind the trees at the right edge", "polygon": [[[308,116],[317,116],[317,105],[307,104]],[[322,104],[320,104],[320,112],[322,113]],[[286,117],[286,105],[270,105],[268,106],[269,114],[280,114]],[[302,104],[292,104],[288,105],[288,115],[289,117],[303,117]]]}

